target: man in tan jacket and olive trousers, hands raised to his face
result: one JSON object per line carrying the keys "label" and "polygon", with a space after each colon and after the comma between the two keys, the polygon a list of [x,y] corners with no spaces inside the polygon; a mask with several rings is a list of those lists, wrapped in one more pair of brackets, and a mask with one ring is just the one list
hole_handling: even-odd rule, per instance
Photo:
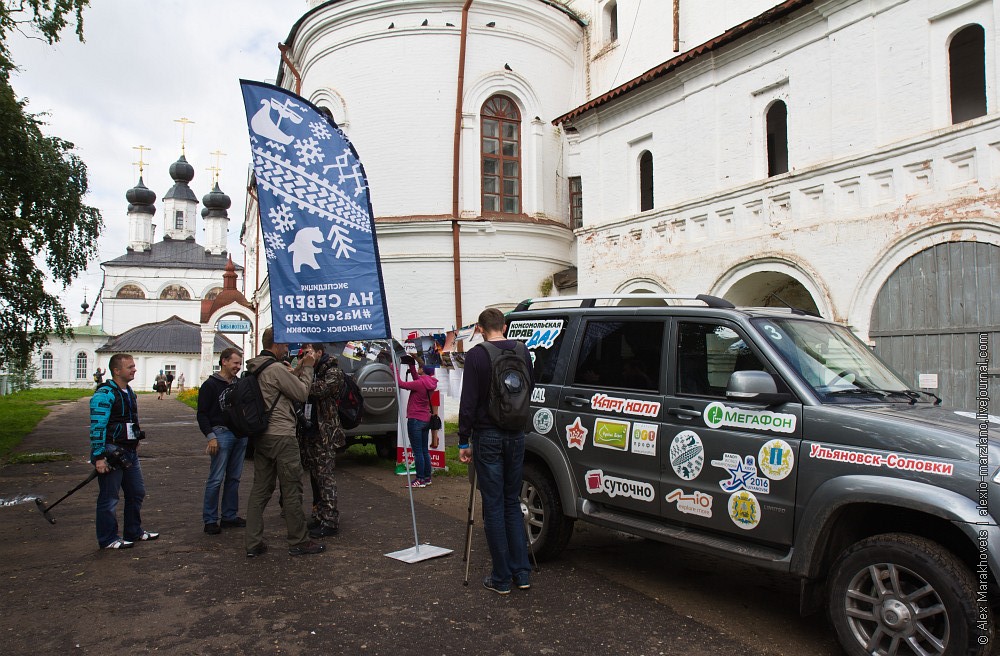
{"label": "man in tan jacket and olive trousers, hands raised to his face", "polygon": [[[284,362],[288,355],[287,344],[274,343],[274,329],[266,328],[261,336],[264,350],[247,361],[251,374],[260,370],[260,385],[264,406],[272,408],[267,430],[253,441],[253,488],[247,507],[247,528],[244,537],[247,558],[263,555],[264,507],[274,494],[274,481],[281,486],[284,499],[285,527],[288,529],[288,553],[291,556],[320,553],[324,547],[309,540],[306,517],[302,512],[302,463],[299,444],[295,437],[295,405],[309,398],[309,384],[313,379],[314,359],[311,355],[300,358],[292,369]],[[276,362],[275,362],[276,361]]]}

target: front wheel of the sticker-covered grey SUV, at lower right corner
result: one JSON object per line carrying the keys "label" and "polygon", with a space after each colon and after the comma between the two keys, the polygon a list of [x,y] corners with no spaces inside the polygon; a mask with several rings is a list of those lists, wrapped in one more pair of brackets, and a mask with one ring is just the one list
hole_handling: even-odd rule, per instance
{"label": "front wheel of the sticker-covered grey SUV, at lower right corner", "polygon": [[972,574],[924,538],[889,533],[858,542],[834,565],[829,593],[830,619],[852,655],[982,654],[993,642],[992,618],[988,633],[976,630]]}

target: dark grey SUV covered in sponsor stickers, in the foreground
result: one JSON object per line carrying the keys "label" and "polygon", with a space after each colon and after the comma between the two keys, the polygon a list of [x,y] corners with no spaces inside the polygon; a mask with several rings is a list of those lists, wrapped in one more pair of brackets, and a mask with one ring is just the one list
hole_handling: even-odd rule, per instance
{"label": "dark grey SUV covered in sponsor stickers, in the foreground", "polygon": [[988,653],[986,408],[943,407],[797,310],[556,297],[507,323],[535,365],[522,502],[539,558],[582,520],[796,576],[852,655]]}

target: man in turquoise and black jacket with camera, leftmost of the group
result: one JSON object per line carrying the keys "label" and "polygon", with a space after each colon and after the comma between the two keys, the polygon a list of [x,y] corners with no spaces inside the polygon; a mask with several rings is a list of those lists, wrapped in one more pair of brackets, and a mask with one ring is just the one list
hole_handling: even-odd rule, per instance
{"label": "man in turquoise and black jacket with camera, leftmost of the group", "polygon": [[[130,549],[136,542],[160,537],[142,528],[142,501],[146,485],[139,466],[139,409],[129,383],[135,378],[135,360],[116,353],[108,362],[111,380],[101,384],[90,399],[90,462],[97,471],[97,544],[101,549]],[[108,463],[108,444],[118,447],[123,466]],[[118,534],[118,491],[125,493],[125,530]]]}

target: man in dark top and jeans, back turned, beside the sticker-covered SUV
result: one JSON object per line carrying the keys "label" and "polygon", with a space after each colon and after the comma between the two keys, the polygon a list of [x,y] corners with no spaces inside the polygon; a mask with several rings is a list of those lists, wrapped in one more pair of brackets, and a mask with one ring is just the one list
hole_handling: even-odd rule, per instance
{"label": "man in dark top and jeans, back turned, beside the sticker-covered SUV", "polygon": [[[503,313],[487,308],[479,315],[476,332],[503,349],[515,349],[532,371],[531,355],[524,344],[505,339]],[[528,537],[521,513],[521,475],[524,471],[524,431],[503,430],[489,418],[491,380],[489,353],[480,344],[465,356],[465,375],[458,411],[459,459],[472,461],[482,496],[483,527],[493,560],[493,570],[483,579],[487,590],[508,594],[511,585],[531,587]],[[534,386],[534,380],[530,381]],[[474,456],[474,457],[473,457]]]}

